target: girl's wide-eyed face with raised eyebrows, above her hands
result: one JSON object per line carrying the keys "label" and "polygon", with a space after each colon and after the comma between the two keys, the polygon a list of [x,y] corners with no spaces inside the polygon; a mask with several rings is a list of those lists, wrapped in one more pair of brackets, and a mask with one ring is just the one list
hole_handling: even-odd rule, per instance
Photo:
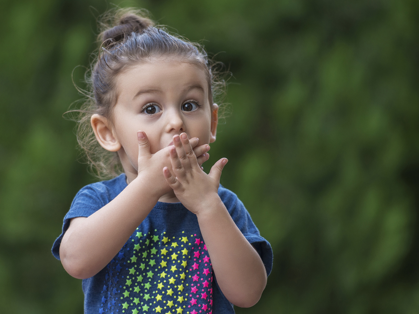
{"label": "girl's wide-eyed face with raised eyebrows, above her hands", "polygon": [[127,175],[137,173],[139,130],[147,134],[152,154],[182,132],[198,137],[198,145],[215,141],[217,106],[209,103],[208,82],[199,67],[173,60],[138,64],[119,75],[116,91],[112,129]]}

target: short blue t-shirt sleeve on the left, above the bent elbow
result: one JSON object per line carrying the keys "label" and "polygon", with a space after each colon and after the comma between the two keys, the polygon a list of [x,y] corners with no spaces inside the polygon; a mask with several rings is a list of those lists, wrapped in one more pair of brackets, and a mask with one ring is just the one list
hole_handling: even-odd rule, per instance
{"label": "short blue t-shirt sleeve on the left, above the bent elbow", "polygon": [[59,246],[62,237],[70,225],[70,220],[76,217],[88,217],[103,206],[104,202],[99,196],[97,188],[92,185],[85,186],[76,194],[71,203],[70,210],[64,217],[62,233],[52,245],[52,255],[54,255],[57,260],[59,260]]}

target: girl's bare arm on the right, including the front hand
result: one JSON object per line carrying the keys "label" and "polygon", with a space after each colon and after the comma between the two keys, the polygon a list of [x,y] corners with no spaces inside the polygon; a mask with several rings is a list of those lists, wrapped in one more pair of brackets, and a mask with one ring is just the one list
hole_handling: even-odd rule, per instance
{"label": "girl's bare arm on the right, including the front hand", "polygon": [[217,161],[207,175],[200,169],[186,134],[174,136],[173,142],[170,157],[174,175],[165,167],[164,176],[179,201],[197,215],[222,293],[237,306],[253,306],[266,286],[266,270],[218,196],[227,159]]}

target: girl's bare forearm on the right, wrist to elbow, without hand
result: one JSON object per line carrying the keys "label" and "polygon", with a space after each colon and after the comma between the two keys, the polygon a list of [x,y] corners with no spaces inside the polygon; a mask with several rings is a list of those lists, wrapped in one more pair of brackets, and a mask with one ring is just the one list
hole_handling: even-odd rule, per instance
{"label": "girl's bare forearm on the right, wrist to elbow, without hand", "polygon": [[238,229],[218,195],[202,204],[199,227],[218,285],[240,307],[259,301],[266,286],[266,270],[259,254]]}

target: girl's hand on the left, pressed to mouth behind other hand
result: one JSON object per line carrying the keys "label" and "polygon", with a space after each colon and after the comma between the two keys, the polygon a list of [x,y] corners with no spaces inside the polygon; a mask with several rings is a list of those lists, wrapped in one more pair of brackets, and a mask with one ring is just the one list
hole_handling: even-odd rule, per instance
{"label": "girl's hand on the left, pressed to mouth behind other hand", "polygon": [[[171,188],[166,183],[164,177],[160,175],[160,171],[163,167],[171,167],[170,161],[170,148],[165,147],[160,149],[155,154],[150,153],[150,143],[147,138],[147,134],[143,131],[137,132],[138,138],[138,175],[137,178],[142,178],[142,176],[147,177],[147,182],[150,184],[151,190],[155,192],[158,196],[161,196],[165,193],[170,192]],[[209,158],[209,145],[204,144],[197,146],[199,139],[194,137],[191,139],[192,153],[196,158],[199,166],[206,162]]]}

